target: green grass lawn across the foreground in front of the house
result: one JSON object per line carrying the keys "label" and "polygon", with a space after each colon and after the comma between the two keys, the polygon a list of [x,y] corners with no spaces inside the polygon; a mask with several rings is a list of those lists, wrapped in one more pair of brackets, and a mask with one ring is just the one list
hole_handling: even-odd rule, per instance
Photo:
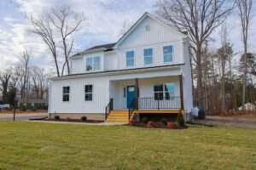
{"label": "green grass lawn across the foreground in front of the house", "polygon": [[0,169],[256,169],[256,130],[0,122]]}

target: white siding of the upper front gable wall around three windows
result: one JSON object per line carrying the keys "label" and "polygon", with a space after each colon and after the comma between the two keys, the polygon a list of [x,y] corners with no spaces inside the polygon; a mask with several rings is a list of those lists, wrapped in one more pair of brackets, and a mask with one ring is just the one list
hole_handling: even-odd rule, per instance
{"label": "white siding of the upper front gable wall around three windows", "polygon": [[[149,31],[146,31],[146,27]],[[163,47],[172,46],[172,62],[164,63]],[[131,69],[158,65],[176,65],[183,63],[183,39],[167,26],[146,18],[131,32],[124,42],[118,45],[119,69]],[[153,64],[144,65],[143,50],[153,49]],[[134,66],[126,66],[126,52],[134,51]]]}

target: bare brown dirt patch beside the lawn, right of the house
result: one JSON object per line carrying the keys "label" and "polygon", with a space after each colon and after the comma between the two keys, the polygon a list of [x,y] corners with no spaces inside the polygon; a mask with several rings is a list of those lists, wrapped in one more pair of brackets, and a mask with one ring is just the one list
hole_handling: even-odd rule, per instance
{"label": "bare brown dirt patch beside the lawn, right of the house", "polygon": [[256,128],[256,118],[251,116],[207,116],[207,120],[195,120],[195,122],[224,127]]}

